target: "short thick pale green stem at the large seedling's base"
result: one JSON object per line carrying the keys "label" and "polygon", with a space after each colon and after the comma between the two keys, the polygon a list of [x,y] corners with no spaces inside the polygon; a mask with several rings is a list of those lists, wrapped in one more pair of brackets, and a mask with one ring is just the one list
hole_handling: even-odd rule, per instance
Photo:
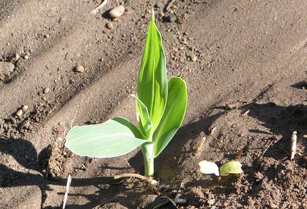
{"label": "short thick pale green stem at the large seedling's base", "polygon": [[154,174],[153,145],[153,143],[141,145],[141,151],[144,156],[145,175],[148,177]]}

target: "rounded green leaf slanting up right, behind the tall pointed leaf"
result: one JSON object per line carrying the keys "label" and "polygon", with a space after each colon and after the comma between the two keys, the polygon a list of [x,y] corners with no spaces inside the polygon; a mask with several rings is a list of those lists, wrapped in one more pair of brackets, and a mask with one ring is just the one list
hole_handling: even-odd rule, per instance
{"label": "rounded green leaf slanting up right, behind the tall pointed leaf", "polygon": [[154,157],[157,157],[181,126],[187,107],[187,87],[184,80],[168,81],[167,102],[161,122],[153,134]]}

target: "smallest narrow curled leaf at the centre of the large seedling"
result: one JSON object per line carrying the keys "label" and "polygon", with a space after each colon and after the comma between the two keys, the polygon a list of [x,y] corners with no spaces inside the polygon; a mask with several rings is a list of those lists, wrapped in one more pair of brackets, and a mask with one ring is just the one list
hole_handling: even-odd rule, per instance
{"label": "smallest narrow curled leaf at the centre of the large seedling", "polygon": [[148,109],[145,104],[135,95],[130,95],[135,98],[135,106],[137,107],[137,118],[139,122],[139,127],[142,133],[149,138],[150,130],[152,127],[152,122],[149,117]]}

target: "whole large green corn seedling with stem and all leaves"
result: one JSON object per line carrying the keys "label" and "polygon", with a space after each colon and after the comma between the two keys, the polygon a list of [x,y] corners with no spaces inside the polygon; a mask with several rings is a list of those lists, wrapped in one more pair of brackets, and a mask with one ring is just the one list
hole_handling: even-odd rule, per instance
{"label": "whole large green corn seedling with stem and all leaves", "polygon": [[154,158],[180,128],[187,105],[185,81],[167,81],[161,35],[150,19],[135,98],[139,129],[123,117],[102,124],[73,127],[65,146],[80,156],[111,158],[141,148],[145,175],[153,176]]}

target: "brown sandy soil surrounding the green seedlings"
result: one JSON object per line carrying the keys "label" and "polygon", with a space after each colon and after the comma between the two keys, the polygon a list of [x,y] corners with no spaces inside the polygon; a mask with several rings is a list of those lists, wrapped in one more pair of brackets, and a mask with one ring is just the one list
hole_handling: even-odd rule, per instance
{"label": "brown sandy soil surrounding the green seedlings", "polygon": [[[187,200],[178,208],[307,208],[307,2],[111,0],[90,15],[99,3],[0,0],[0,208],[62,208],[69,174],[65,208],[153,208],[164,195]],[[126,11],[111,21],[107,11],[119,4]],[[155,159],[164,195],[113,181],[142,174],[138,149],[90,159],[63,147],[74,125],[114,116],[137,124],[129,95],[151,8],[167,76],[188,88],[182,128]],[[244,173],[221,183],[197,165],[233,159]]]}

